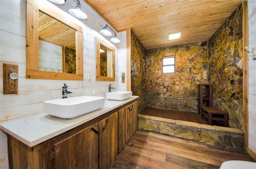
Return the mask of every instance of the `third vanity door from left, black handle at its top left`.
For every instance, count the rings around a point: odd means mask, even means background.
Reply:
[[[99,122],[99,168],[109,169],[118,155],[118,112]]]

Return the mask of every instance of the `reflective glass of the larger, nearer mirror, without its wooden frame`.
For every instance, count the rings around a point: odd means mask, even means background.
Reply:
[[[76,30],[38,12],[38,70],[76,74]]]

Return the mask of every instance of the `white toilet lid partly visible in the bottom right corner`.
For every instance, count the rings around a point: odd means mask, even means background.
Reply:
[[[256,169],[256,163],[240,160],[225,161],[220,169]]]

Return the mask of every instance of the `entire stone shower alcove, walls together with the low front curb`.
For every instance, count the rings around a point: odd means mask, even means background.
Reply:
[[[206,42],[146,50],[132,32],[132,92],[139,96],[138,129],[200,142],[208,140],[211,144],[225,147],[243,147],[241,15],[242,6]],[[230,24],[237,20],[236,25]],[[162,73],[164,56],[175,56],[175,73]],[[198,128],[194,123],[174,119],[177,115],[188,117],[186,112],[198,115],[198,84],[213,85],[213,107],[229,113],[228,126],[234,132],[223,127],[215,137],[211,135],[211,132],[217,130],[214,126],[203,125],[202,128],[200,125]],[[152,115],[145,115],[150,111],[153,112]],[[158,118],[158,114],[164,114],[163,112],[167,112],[170,120]],[[167,133],[168,131],[170,132]]]

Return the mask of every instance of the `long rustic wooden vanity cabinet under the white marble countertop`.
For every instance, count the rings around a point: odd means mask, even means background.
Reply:
[[[135,100],[33,147],[8,134],[9,168],[108,169],[136,128]]]

